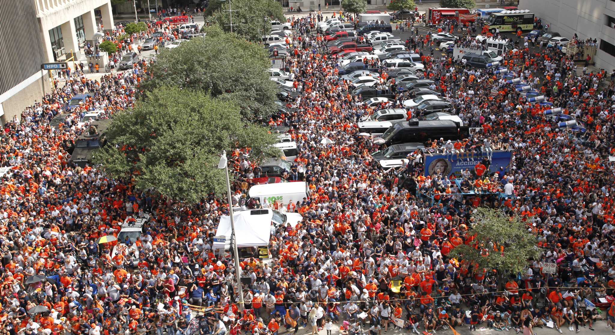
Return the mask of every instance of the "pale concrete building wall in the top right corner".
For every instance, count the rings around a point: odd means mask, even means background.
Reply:
[[[608,25],[608,16],[615,18],[615,0],[522,0],[519,9],[529,9],[549,24],[549,31],[571,38],[597,39],[596,67],[615,69],[613,55],[600,49],[601,40],[615,45],[615,29]]]

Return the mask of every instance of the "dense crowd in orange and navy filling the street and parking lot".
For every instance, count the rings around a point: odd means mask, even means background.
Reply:
[[[559,129],[544,116],[546,107],[530,103],[492,70],[419,48],[422,75],[434,80],[434,90],[454,103],[466,125],[479,128],[456,152],[467,148],[484,158],[482,168],[463,175],[464,183],[486,179],[509,197],[458,196],[444,191],[451,187],[448,175],[424,175],[420,155],[399,171],[371,158],[378,146],[359,134],[357,120],[402,106],[407,93],[365,106],[347,92],[338,59],[327,55],[315,33],[316,19],[292,23],[294,50],[286,64],[301,94],[270,122],[290,128],[299,155],[288,179],[299,178],[301,164],[312,195],[276,204],[303,220],[271,235],[271,260],[256,256],[234,264],[212,251],[218,220],[229,211],[221,196],[186,206],[137,190],[129,179],[109,179],[96,166],[69,163],[66,149],[84,131],[77,126],[82,115],[105,110],[113,117],[129,109],[149,63],[98,80],[75,69],[64,85],[57,83],[4,125],[0,136],[2,166],[9,168],[1,186],[0,331],[277,335],[281,326],[294,333],[306,326],[312,334],[339,328],[341,334],[379,335],[392,328],[419,333],[479,325],[529,335],[536,326],[593,330],[597,319],[607,318],[615,332],[615,307],[608,304],[615,289],[615,166],[609,161],[615,97],[605,73],[579,75],[553,48],[503,55],[504,66],[585,125],[580,133]],[[427,36],[418,39],[429,44]],[[67,107],[72,96],[86,92],[94,94]],[[68,116],[50,125],[62,114]],[[450,151],[438,139],[433,145]],[[486,145],[511,150],[512,164],[490,169]],[[263,206],[246,197],[252,179],[261,177],[258,164],[244,150],[233,160],[233,205]],[[400,173],[407,184],[399,185]],[[437,202],[421,196],[434,190],[442,191]],[[472,212],[479,206],[520,217],[536,235],[542,255],[520,260],[525,272],[501,282],[493,269],[448,257],[454,247],[472,244]],[[113,253],[117,242],[98,243],[137,218],[146,218],[143,234],[122,241],[136,260]],[[544,263],[557,263],[557,274],[547,276]],[[244,310],[232,284],[236,266],[249,277]],[[605,311],[599,315],[587,302]]]

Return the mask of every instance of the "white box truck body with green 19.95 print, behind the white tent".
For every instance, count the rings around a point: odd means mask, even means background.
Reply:
[[[279,202],[280,206],[287,206],[288,202],[296,203],[309,199],[311,192],[306,182],[273,183],[254,185],[248,190],[250,198],[256,198],[264,206],[271,206],[274,202]]]

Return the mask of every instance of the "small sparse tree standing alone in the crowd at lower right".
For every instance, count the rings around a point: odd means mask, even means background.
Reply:
[[[538,256],[536,236],[518,217],[481,207],[472,218],[468,234],[476,235],[474,242],[455,247],[450,257],[472,261],[488,271],[495,269],[500,275],[516,275],[523,271],[528,258]]]

